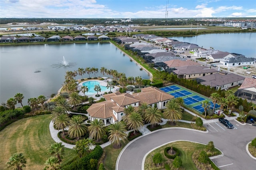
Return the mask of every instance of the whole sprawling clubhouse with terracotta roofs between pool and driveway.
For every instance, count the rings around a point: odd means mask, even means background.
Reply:
[[[101,119],[105,125],[122,121],[124,109],[128,106],[138,107],[146,102],[148,106],[165,109],[166,103],[174,97],[156,87],[146,87],[140,93],[110,93],[103,95],[106,101],[94,103],[87,109],[90,121]]]

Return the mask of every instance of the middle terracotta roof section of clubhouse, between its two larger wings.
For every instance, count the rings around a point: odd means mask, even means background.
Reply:
[[[122,93],[120,95],[112,96],[110,99],[116,102],[119,106],[126,106],[140,102],[139,100],[134,99],[134,97],[129,93]]]

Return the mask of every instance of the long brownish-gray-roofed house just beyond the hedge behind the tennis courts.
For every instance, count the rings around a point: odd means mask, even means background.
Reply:
[[[201,83],[202,85],[210,86],[211,88],[214,88],[216,90],[223,90],[237,85],[241,85],[244,79],[244,77],[236,75],[234,73],[217,73],[212,75],[206,75],[204,77],[199,77],[197,80],[198,83]]]

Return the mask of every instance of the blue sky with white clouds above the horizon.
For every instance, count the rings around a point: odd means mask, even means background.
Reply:
[[[168,15],[167,15],[168,11]],[[0,0],[0,18],[256,17],[256,0]]]

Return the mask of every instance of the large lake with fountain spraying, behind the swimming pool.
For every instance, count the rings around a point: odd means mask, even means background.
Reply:
[[[67,62],[76,65],[53,68],[53,64],[62,63],[63,56]],[[0,46],[0,102],[22,93],[26,105],[28,98],[57,93],[62,87],[66,71],[78,70],[79,67],[98,68],[96,76],[103,76],[100,68],[105,67],[125,73],[126,77],[149,79],[146,71],[141,71],[139,65],[112,43],[6,45]],[[90,74],[92,76],[94,74]],[[81,79],[81,76],[76,76],[76,79]]]

